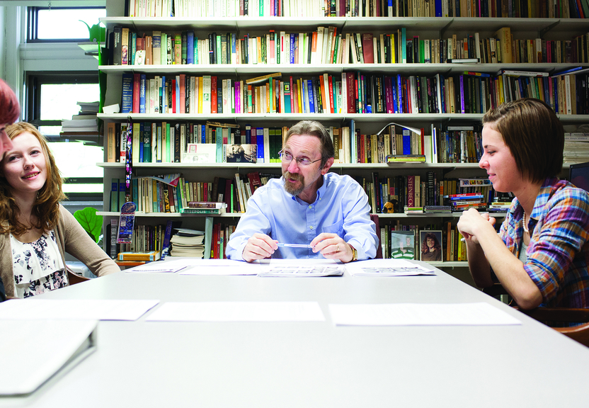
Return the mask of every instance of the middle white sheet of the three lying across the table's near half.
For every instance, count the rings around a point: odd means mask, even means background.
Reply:
[[[324,322],[318,302],[166,302],[146,322]]]

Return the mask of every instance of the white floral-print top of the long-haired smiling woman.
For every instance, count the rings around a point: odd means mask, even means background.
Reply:
[[[40,295],[67,286],[67,273],[55,241],[55,232],[44,232],[35,242],[20,242],[10,235],[16,297]]]

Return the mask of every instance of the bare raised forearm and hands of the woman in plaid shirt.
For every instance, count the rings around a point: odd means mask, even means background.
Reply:
[[[467,237],[467,240],[471,241],[467,243],[467,249],[470,250],[469,266],[471,266],[471,256],[474,258],[482,257],[472,242],[476,239],[488,261],[488,265],[493,268],[493,272],[496,274],[499,282],[501,282],[503,288],[517,302],[517,305],[520,305],[522,309],[533,309],[542,303],[542,293],[540,293],[537,285],[525,271],[524,264],[513,256],[507,246],[505,246],[505,243],[498,236],[491,222],[488,222],[488,220],[482,217],[478,211],[470,209],[462,213],[458,223],[459,231]],[[473,263],[473,268],[477,266],[483,268],[480,272],[479,283],[484,285],[483,287],[492,285],[491,271],[485,268],[484,262],[474,262],[476,263]],[[471,271],[474,270],[476,269],[471,269]],[[475,272],[475,274],[479,273]]]

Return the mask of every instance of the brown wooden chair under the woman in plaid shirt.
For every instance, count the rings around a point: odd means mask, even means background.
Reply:
[[[491,296],[507,294],[507,290],[505,290],[501,284],[484,288],[483,292]],[[577,309],[574,307],[536,307],[532,310],[523,310],[517,305],[512,306],[520,312],[532,317],[532,319],[539,320],[540,322],[583,322],[584,324],[578,326],[552,327],[552,329],[578,341],[583,344],[583,346],[589,347],[589,309]]]

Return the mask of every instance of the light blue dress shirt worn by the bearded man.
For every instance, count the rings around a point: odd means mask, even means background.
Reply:
[[[378,237],[370,220],[368,197],[350,176],[328,173],[314,203],[287,193],[284,179],[270,179],[248,200],[248,210],[227,243],[227,258],[243,260],[241,254],[256,232],[282,244],[310,244],[322,232],[338,234],[358,251],[358,259],[374,258]],[[323,258],[308,248],[279,247],[278,259]]]

